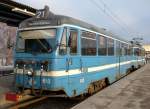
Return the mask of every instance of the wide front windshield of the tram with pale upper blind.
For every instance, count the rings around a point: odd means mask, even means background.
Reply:
[[[20,31],[16,52],[51,53],[56,44],[56,29]]]

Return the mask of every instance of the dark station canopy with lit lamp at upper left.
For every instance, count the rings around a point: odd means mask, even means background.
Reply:
[[[19,23],[35,15],[36,9],[12,0],[0,0],[0,22],[17,27]]]

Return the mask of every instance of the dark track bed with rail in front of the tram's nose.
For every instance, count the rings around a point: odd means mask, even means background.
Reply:
[[[14,103],[5,109],[70,109],[84,99],[65,97],[32,97],[27,100]]]

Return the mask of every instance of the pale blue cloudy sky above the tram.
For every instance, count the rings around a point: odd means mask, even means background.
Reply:
[[[67,15],[105,28],[126,40],[143,38],[150,43],[150,0],[14,0],[36,9],[45,5],[55,14]]]

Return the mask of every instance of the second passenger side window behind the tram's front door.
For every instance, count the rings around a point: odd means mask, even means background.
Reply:
[[[99,36],[98,55],[107,55],[107,39],[104,36]]]

